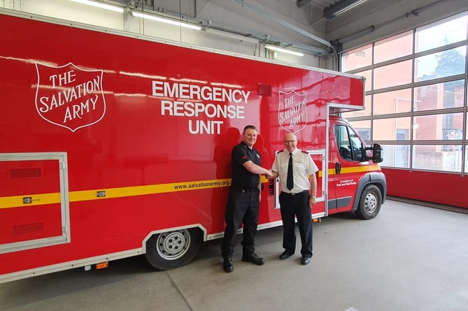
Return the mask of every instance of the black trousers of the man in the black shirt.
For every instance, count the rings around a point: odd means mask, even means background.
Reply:
[[[221,255],[232,257],[237,229],[243,224],[242,252],[250,255],[255,252],[255,233],[257,233],[258,210],[260,205],[259,189],[231,187],[225,214],[225,236],[222,238]]]

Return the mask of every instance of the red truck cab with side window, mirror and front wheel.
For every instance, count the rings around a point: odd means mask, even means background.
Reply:
[[[387,189],[381,156],[380,145],[367,147],[345,119],[329,117],[328,215],[353,210],[362,219],[376,217]]]

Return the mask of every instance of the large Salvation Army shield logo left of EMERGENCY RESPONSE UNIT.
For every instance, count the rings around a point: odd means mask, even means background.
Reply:
[[[102,70],[36,63],[36,71],[36,110],[44,120],[74,132],[106,114]]]

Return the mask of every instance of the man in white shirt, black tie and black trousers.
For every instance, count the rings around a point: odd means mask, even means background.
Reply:
[[[311,206],[315,205],[318,167],[307,152],[297,149],[294,133],[285,136],[286,149],[278,152],[271,168],[272,178],[281,181],[281,219],[283,220],[283,247],[280,259],[287,259],[295,253],[295,217],[302,241],[303,265],[311,262],[312,257],[312,219]]]

